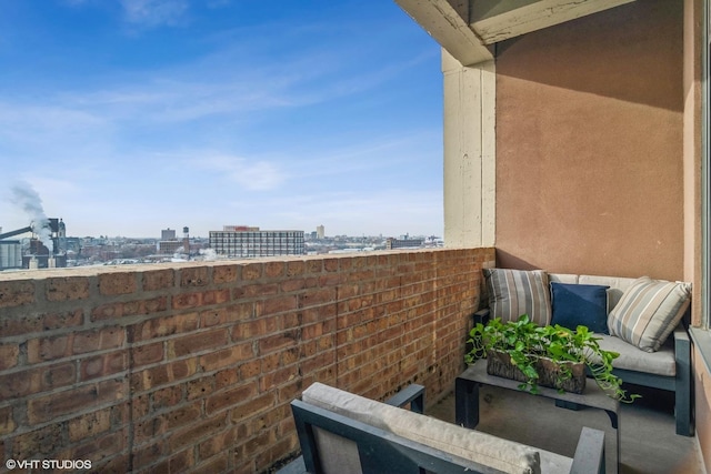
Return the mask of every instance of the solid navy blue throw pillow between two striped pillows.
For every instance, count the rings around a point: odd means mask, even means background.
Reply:
[[[592,332],[608,332],[608,289],[610,286],[590,284],[568,284],[551,282],[551,324],[575,330],[588,326]]]

